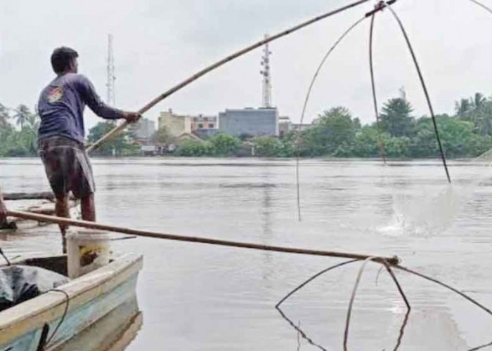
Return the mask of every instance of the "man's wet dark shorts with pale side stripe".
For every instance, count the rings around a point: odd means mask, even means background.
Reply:
[[[54,136],[39,140],[39,156],[56,197],[72,191],[77,199],[96,190],[92,167],[84,145],[75,140]]]

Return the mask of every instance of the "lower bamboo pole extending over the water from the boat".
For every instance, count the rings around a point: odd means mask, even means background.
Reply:
[[[150,237],[156,239],[167,239],[167,240],[176,240],[176,241],[188,241],[202,244],[212,244],[219,246],[232,246],[243,249],[254,249],[254,250],[262,250],[262,251],[276,251],[283,253],[299,253],[302,255],[312,255],[312,256],[329,256],[329,257],[340,257],[340,258],[353,258],[356,260],[365,260],[369,257],[375,257],[373,255],[362,255],[358,253],[346,253],[346,252],[335,252],[335,251],[321,251],[321,250],[311,250],[311,249],[298,249],[298,248],[290,248],[290,247],[282,247],[282,246],[269,246],[263,244],[251,244],[245,242],[238,241],[227,241],[221,239],[209,239],[205,237],[188,237],[186,235],[177,235],[177,234],[165,234],[159,232],[149,232],[146,230],[136,230],[126,227],[117,227],[114,225],[105,225],[96,222],[88,222],[86,220],[72,220],[70,218],[63,217],[54,217],[54,216],[46,216],[40,215],[37,213],[28,213],[22,211],[7,211],[7,216],[23,218],[26,220],[37,220],[39,222],[48,222],[48,223],[57,223],[62,225],[72,225],[74,227],[84,227],[89,229],[96,230],[108,230],[110,232],[119,232],[124,234],[133,234],[138,237]],[[390,265],[398,265],[400,260],[398,257],[380,257],[377,256],[373,259],[375,262],[379,263],[389,263]]]

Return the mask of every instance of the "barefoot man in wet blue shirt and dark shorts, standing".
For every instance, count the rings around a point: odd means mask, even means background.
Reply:
[[[57,77],[41,91],[38,102],[41,124],[38,134],[39,155],[44,164],[51,189],[56,197],[56,215],[70,217],[68,193],[81,200],[82,219],[96,220],[95,186],[91,163],[84,148],[84,107],[104,119],[126,119],[141,116],[106,105],[96,93],[91,81],[77,74],[77,51],[56,48],[51,54],[51,66]],[[65,230],[60,225],[65,251]]]

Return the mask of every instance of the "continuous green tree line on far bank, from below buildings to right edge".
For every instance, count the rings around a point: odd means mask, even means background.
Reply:
[[[259,157],[439,157],[432,119],[415,118],[404,96],[385,102],[379,117],[379,123],[363,126],[346,107],[332,107],[311,126],[282,138],[215,135],[205,142],[188,140],[176,153],[228,156],[250,147]],[[455,114],[436,115],[436,124],[447,157],[477,157],[492,148],[492,98],[481,93],[462,98],[455,102]]]

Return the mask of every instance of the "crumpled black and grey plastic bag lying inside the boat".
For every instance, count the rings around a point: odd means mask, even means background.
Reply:
[[[0,268],[0,311],[70,282],[62,274],[27,265]]]

